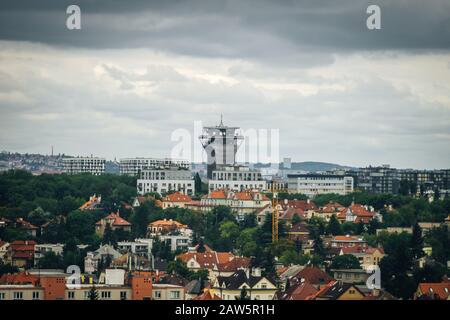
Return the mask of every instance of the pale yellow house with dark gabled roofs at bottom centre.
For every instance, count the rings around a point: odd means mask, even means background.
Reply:
[[[223,300],[236,300],[245,288],[250,300],[273,300],[277,292],[275,280],[261,275],[259,269],[238,270],[228,277],[219,276],[215,279],[211,293]]]

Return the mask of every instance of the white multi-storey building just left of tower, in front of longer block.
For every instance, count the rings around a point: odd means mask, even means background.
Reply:
[[[137,191],[141,195],[150,192],[164,194],[170,191],[193,195],[195,182],[191,171],[179,167],[143,169],[137,180]]]

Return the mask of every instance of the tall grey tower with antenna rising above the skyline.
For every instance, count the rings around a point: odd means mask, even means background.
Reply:
[[[199,139],[206,151],[207,177],[211,179],[212,172],[216,168],[236,164],[236,153],[240,141],[244,137],[241,135],[239,127],[225,126],[221,115],[220,124],[218,126],[203,127],[203,132]]]

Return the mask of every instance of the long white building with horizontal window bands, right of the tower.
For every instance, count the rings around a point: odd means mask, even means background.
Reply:
[[[289,193],[302,193],[308,197],[336,193],[346,195],[353,192],[353,177],[332,174],[289,174]]]

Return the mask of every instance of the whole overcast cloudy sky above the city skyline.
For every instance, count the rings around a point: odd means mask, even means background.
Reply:
[[[293,161],[449,168],[450,1],[0,2],[0,150],[165,157],[220,114]]]

